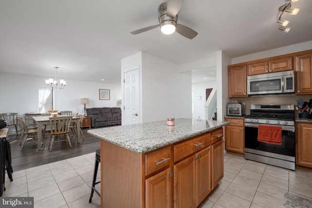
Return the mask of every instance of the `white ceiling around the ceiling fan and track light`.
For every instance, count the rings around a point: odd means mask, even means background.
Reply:
[[[1,0],[0,71],[120,84],[120,60],[139,51],[177,64],[223,50],[230,57],[312,40],[312,0],[299,0],[278,31],[285,0],[185,0],[178,23],[198,35],[163,35],[155,28],[162,0]]]

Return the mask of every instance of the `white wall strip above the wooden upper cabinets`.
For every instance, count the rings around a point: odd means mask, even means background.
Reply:
[[[275,56],[291,54],[291,53],[306,51],[306,50],[311,50],[311,49],[312,49],[312,40],[303,42],[303,43],[281,47],[281,48],[275,48],[275,49],[268,50],[268,51],[262,51],[259,53],[249,54],[249,55],[242,56],[242,57],[235,57],[235,58],[232,58],[231,64],[243,63],[243,62],[253,61],[253,60],[257,60],[261,58],[275,57]]]

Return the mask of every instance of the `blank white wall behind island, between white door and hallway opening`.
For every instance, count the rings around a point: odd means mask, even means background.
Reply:
[[[142,109],[143,122],[192,118],[192,73],[142,52]]]

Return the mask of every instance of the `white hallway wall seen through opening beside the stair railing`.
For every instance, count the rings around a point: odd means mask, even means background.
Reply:
[[[216,81],[200,82],[192,84],[194,92],[194,119],[205,119],[205,103],[206,103],[206,89],[214,88]],[[201,96],[201,100],[197,100],[197,96]]]

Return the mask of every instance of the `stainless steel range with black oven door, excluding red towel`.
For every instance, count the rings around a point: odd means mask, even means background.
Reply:
[[[251,105],[245,116],[245,158],[295,170],[294,105]],[[282,143],[257,140],[258,125],[282,127]]]

